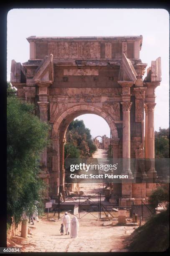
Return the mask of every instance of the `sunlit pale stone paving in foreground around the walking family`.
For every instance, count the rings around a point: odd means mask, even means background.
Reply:
[[[23,252],[109,252],[124,250],[123,239],[130,235],[133,227],[103,226],[101,220],[79,220],[79,237],[60,235],[62,220],[41,220],[32,229],[33,235],[20,238]]]

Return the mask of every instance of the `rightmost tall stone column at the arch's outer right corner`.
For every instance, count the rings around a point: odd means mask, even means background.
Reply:
[[[148,177],[157,177],[155,171],[155,132],[154,132],[154,109],[156,103],[146,103],[148,120],[147,120],[147,157],[151,160],[151,166],[147,172]]]

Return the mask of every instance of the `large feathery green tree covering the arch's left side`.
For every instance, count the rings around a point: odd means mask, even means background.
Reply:
[[[7,217],[15,223],[39,202],[45,189],[38,177],[40,152],[48,145],[49,125],[33,115],[34,105],[7,98]]]

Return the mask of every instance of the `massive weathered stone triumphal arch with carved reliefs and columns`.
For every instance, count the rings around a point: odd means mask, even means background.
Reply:
[[[11,64],[11,83],[17,95],[38,106],[36,115],[51,124],[51,147],[41,155],[41,177],[49,196],[64,188],[64,142],[69,123],[93,113],[111,129],[114,158],[154,159],[155,88],[161,81],[160,57],[140,59],[142,36],[27,38],[30,59]],[[144,115],[145,112],[145,115]],[[144,118],[145,117],[145,118]],[[145,119],[145,120],[144,120]],[[95,123],[94,123],[95,125]],[[156,179],[154,161],[138,176]],[[131,175],[130,163],[124,172]],[[151,189],[143,182],[143,196]],[[139,184],[114,184],[115,194],[137,197]],[[136,193],[136,194],[135,194]]]

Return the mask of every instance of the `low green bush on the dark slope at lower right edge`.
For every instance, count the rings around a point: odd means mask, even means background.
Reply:
[[[169,184],[155,189],[149,197],[149,203],[155,207],[164,202],[169,202]]]

